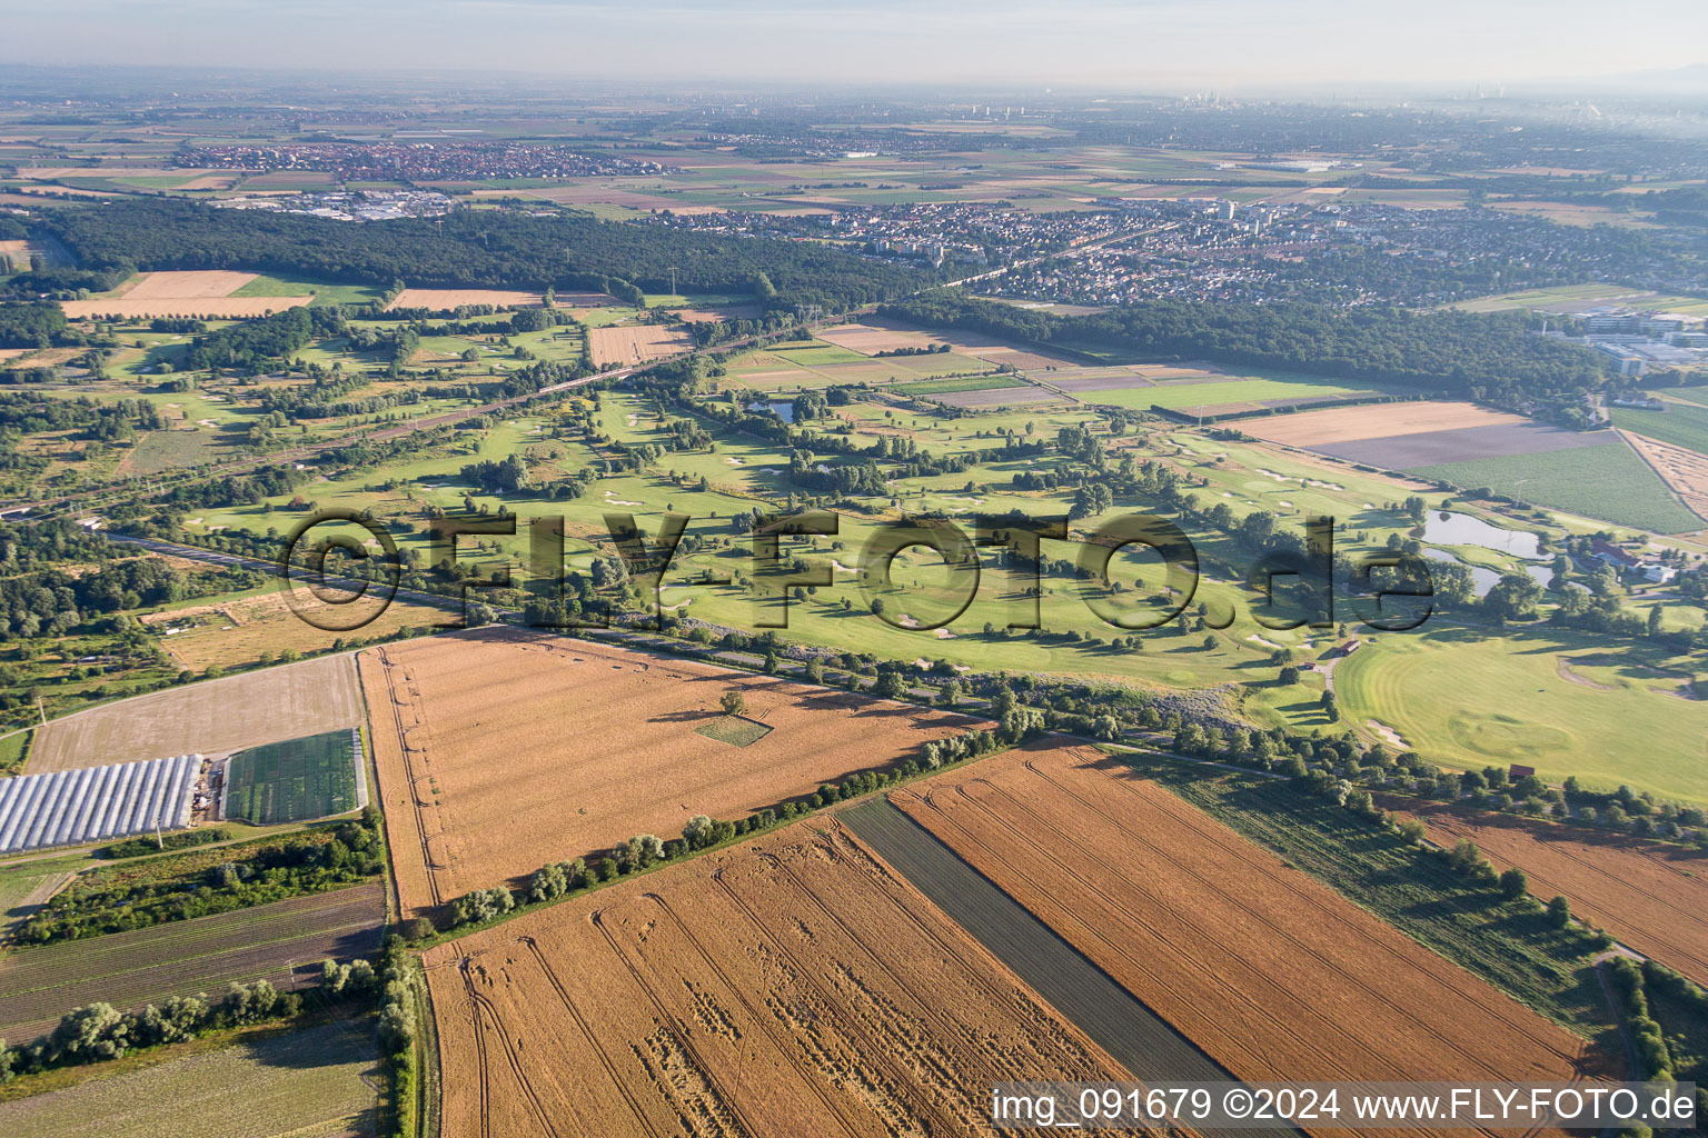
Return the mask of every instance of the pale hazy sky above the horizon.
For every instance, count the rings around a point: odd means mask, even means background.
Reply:
[[[1705,0],[0,0],[0,61],[1179,90],[1708,61]]]

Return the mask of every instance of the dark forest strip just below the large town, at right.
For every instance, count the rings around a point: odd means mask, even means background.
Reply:
[[[1397,382],[1428,394],[1527,408],[1573,425],[1588,423],[1582,396],[1604,380],[1595,355],[1530,334],[1517,314],[1156,300],[1059,317],[958,292],[934,292],[880,312],[1066,348],[1120,348],[1158,360],[1199,358]]]

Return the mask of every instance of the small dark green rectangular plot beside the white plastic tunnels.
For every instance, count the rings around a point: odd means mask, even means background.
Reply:
[[[354,810],[355,761],[348,730],[243,751],[225,768],[225,817],[268,826]]]

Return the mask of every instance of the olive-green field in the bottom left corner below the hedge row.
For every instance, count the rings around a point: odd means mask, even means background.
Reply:
[[[34,1138],[284,1138],[374,1131],[374,1032],[333,1020],[260,1034],[109,1078],[0,1104],[0,1133]],[[99,1126],[96,1126],[99,1121]]]

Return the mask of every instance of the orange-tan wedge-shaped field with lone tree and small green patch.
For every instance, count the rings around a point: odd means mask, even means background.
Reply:
[[[447,633],[359,660],[412,914],[635,834],[675,838],[695,814],[746,817],[977,723],[518,631]],[[746,696],[745,718],[721,713],[726,691]],[[755,734],[746,746],[716,737]]]

